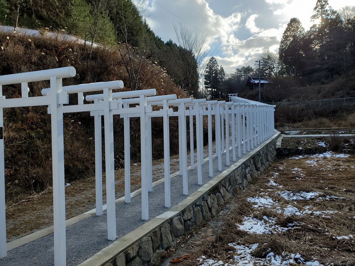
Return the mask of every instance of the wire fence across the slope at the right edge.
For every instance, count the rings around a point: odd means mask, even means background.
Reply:
[[[290,101],[290,102],[264,102],[271,105],[298,105],[304,107],[322,107],[322,106],[339,106],[339,105],[355,105],[355,97],[338,98],[338,99],[323,99],[313,101]]]

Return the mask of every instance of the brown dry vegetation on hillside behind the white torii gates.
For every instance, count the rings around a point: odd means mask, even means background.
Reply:
[[[21,73],[57,67],[73,66],[76,76],[63,80],[63,86],[81,83],[122,80],[132,83],[129,72],[138,72],[137,89],[154,88],[157,95],[186,93],[175,85],[163,68],[154,62],[140,60],[130,47],[131,57],[124,46],[94,48],[49,39],[0,33],[0,74]],[[121,49],[121,52],[120,52]],[[122,58],[122,56],[123,58]],[[129,62],[124,64],[124,60]],[[49,82],[29,83],[29,96],[40,96]],[[131,86],[130,86],[131,87]],[[129,90],[124,88],[124,90]],[[6,98],[21,95],[20,84],[3,86]],[[70,102],[76,102],[71,95]],[[170,118],[170,132],[176,132],[177,120]],[[160,158],[163,150],[163,127],[160,119],[152,119],[153,158]],[[6,200],[21,199],[51,185],[51,134],[47,107],[34,106],[4,109]],[[124,160],[123,123],[114,117],[115,168]],[[103,139],[104,141],[104,139]],[[64,114],[65,176],[66,181],[90,176],[94,171],[94,121],[87,113]],[[170,135],[171,153],[178,151],[178,141]],[[104,155],[104,153],[103,153]],[[140,158],[139,119],[131,119],[131,160]],[[103,158],[104,162],[104,158]]]

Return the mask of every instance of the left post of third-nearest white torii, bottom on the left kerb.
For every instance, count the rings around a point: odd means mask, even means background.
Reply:
[[[98,104],[98,99],[94,100]],[[94,111],[95,126],[95,198],[96,198],[96,215],[102,215],[102,132],[101,132],[101,116],[99,111]]]

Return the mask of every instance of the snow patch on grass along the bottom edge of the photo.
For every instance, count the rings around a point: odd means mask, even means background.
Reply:
[[[224,263],[223,261],[216,261],[207,259],[205,256],[201,256],[201,258],[197,259],[200,261],[200,265],[203,266],[253,266],[253,265],[284,265],[290,266],[295,264],[301,264],[305,266],[322,266],[317,260],[307,261],[301,257],[298,253],[283,253],[282,255],[276,255],[272,251],[268,251],[268,254],[265,258],[258,258],[251,255],[257,247],[258,243],[252,245],[238,245],[236,243],[230,243],[229,246],[235,248],[235,252],[233,259],[230,259],[228,263]]]

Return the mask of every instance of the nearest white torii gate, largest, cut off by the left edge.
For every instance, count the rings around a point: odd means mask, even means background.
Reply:
[[[21,83],[21,98],[0,99],[0,257],[6,256],[6,218],[5,218],[5,162],[3,108],[48,105],[51,113],[52,164],[53,164],[53,215],[54,215],[54,263],[66,265],[65,236],[65,184],[64,184],[64,137],[63,104],[69,103],[69,97],[62,92],[62,78],[74,77],[74,67],[63,67],[27,73],[0,76],[0,95],[2,85]],[[28,97],[28,82],[50,81],[50,94]]]

